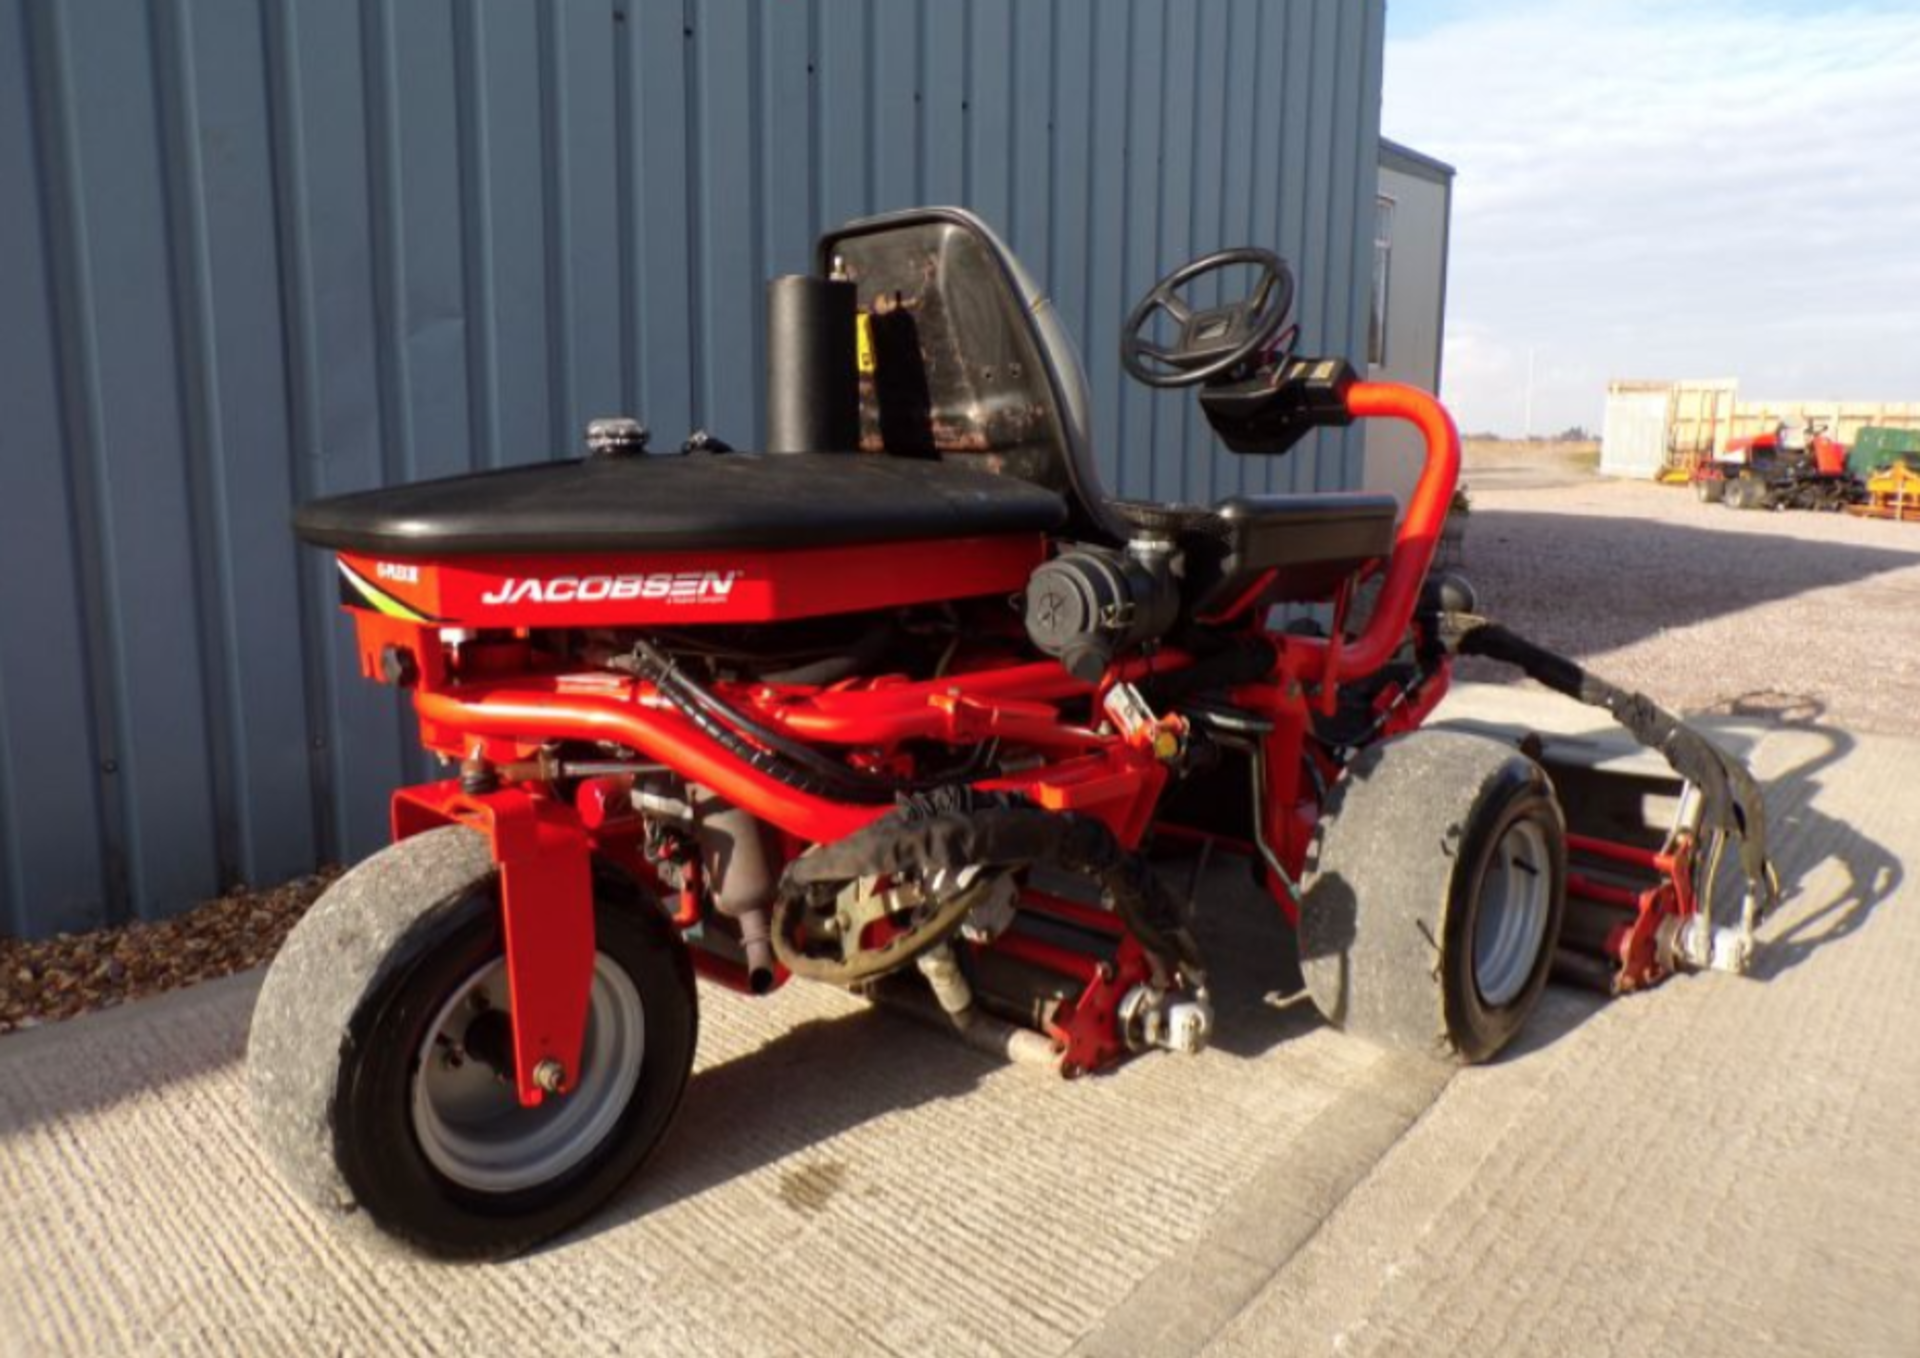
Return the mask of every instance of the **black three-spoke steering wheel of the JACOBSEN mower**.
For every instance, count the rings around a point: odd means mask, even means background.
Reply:
[[[1260,280],[1246,298],[1206,311],[1181,302],[1181,288],[1235,265],[1260,269]],[[1292,305],[1294,275],[1277,254],[1258,246],[1215,250],[1183,263],[1140,298],[1119,328],[1119,365],[1127,376],[1148,386],[1198,386],[1260,353],[1281,332]],[[1171,350],[1146,338],[1154,311],[1165,311],[1181,328]]]

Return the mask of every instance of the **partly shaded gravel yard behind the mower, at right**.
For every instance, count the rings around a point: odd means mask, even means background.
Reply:
[[[1465,570],[1517,632],[1682,711],[1920,736],[1920,526],[1740,513],[1501,448],[1469,448],[1467,480]]]

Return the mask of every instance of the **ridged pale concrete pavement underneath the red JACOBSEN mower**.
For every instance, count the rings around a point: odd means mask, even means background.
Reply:
[[[1764,734],[1793,899],[1761,976],[1549,991],[1471,1072],[1323,1028],[1225,885],[1194,1060],[1064,1083],[831,991],[703,991],[666,1147],[505,1266],[280,1189],[253,978],[8,1037],[0,1352],[1914,1354],[1916,759]]]

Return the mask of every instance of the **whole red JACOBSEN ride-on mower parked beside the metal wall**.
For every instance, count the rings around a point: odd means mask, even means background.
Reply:
[[[1242,300],[1192,300],[1235,269]],[[1770,891],[1751,778],[1428,580],[1453,423],[1296,357],[1292,292],[1265,250],[1196,259],[1121,361],[1198,386],[1244,455],[1409,421],[1398,522],[1365,494],[1110,499],[1060,319],[962,211],[852,223],[772,284],[762,453],[649,455],[601,421],[582,461],[305,505],[365,674],[449,776],[394,793],[394,845],[261,991],[286,1176],[440,1254],[551,1235],[664,1133],[695,976],[904,983],[1068,1076],[1200,1051],[1167,845],[1244,857],[1331,1022],[1442,1058],[1498,1053],[1557,960],[1613,991],[1743,966]],[[1538,741],[1417,730],[1455,653],[1613,711],[1672,763],[1670,820],[1596,791],[1590,834]],[[1757,885],[1715,918],[1728,843]]]

